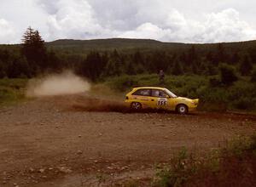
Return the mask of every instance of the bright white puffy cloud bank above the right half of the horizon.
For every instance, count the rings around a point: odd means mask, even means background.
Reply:
[[[230,42],[256,39],[256,31],[247,22],[240,20],[239,13],[232,8],[217,14],[207,14],[201,22],[185,19],[177,10],[166,14],[166,18],[162,26],[148,22],[133,31],[125,31],[119,37],[143,37],[172,42]]]

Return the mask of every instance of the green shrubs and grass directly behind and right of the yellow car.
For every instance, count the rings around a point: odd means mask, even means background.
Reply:
[[[170,89],[174,94],[190,99],[200,99],[199,109],[203,111],[255,111],[256,84],[246,78],[240,78],[231,86],[212,86],[210,79],[204,76],[166,76],[160,84],[156,74],[110,77],[101,84],[115,93],[125,94],[131,88],[156,86]]]

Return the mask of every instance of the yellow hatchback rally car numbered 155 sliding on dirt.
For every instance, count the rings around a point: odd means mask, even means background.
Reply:
[[[126,94],[125,103],[133,110],[145,108],[164,109],[186,114],[195,111],[199,99],[177,97],[166,88],[141,87],[133,88]]]

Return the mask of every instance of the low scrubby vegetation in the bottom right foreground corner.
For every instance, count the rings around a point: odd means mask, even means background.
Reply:
[[[226,147],[199,157],[183,148],[170,163],[159,166],[154,187],[251,186],[256,172],[256,134],[237,137]]]

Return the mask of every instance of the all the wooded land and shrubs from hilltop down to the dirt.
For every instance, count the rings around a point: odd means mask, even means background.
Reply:
[[[91,82],[107,82],[119,91],[158,85],[157,73],[164,70],[165,86],[177,94],[203,102],[232,103],[232,108],[256,108],[256,41],[186,44],[113,38],[44,42],[29,27],[20,44],[0,45],[0,78],[27,79],[64,70]]]

